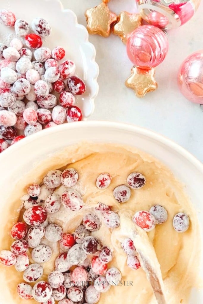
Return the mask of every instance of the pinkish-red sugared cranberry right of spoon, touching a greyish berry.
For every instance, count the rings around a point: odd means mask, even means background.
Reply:
[[[156,226],[155,217],[148,211],[138,211],[133,216],[133,221],[143,230],[149,232]]]

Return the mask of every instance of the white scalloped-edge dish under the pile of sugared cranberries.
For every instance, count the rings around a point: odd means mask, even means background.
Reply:
[[[76,74],[85,81],[87,88],[85,94],[76,96],[76,105],[82,110],[83,120],[90,116],[99,90],[99,67],[95,62],[96,50],[88,41],[86,28],[78,24],[75,13],[64,10],[59,0],[1,0],[0,9],[8,9],[17,19],[25,19],[29,23],[36,17],[50,23],[52,32],[43,45],[50,49],[62,46],[66,51],[64,60],[75,62]],[[15,36],[14,29],[0,24],[0,42],[9,45],[12,36]]]

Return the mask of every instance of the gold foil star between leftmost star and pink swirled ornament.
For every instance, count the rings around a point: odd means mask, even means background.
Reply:
[[[128,12],[121,12],[118,16],[117,23],[113,26],[112,32],[121,38],[123,43],[127,43],[128,35],[134,29],[142,25],[142,18],[139,14],[130,14]]]

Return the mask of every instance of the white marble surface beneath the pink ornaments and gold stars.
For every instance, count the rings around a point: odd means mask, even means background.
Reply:
[[[62,0],[62,3],[75,12],[79,23],[86,25],[85,10],[99,4],[100,0]],[[117,14],[122,10],[136,12],[135,0],[111,0],[109,7]],[[177,87],[177,71],[184,58],[203,49],[202,13],[203,1],[187,24],[168,32],[169,53],[156,68],[159,88],[142,99],[124,85],[132,64],[119,37],[90,35],[100,67],[100,91],[95,100],[95,112],[89,119],[132,123],[156,131],[203,161],[203,111],[199,105],[187,101]]]

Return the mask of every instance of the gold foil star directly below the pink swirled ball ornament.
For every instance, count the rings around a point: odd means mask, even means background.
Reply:
[[[144,97],[146,93],[155,91],[158,87],[154,74],[154,68],[143,70],[134,66],[131,69],[131,76],[125,81],[125,85],[133,89],[137,97]]]

